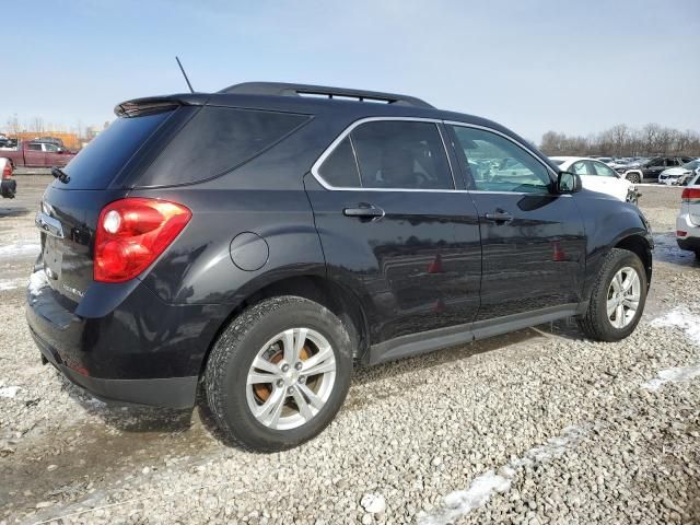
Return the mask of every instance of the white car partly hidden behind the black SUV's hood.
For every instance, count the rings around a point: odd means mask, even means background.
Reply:
[[[583,187],[591,191],[611,195],[622,201],[637,203],[637,186],[621,178],[615,170],[595,159],[585,156],[550,156],[560,170],[581,176]]]

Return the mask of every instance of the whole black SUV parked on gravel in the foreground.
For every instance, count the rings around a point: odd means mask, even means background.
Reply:
[[[27,290],[44,360],[97,397],[201,388],[275,451],[331,421],[353,363],[569,316],[615,341],[642,314],[640,211],[490,120],[277,83],[115,112],[44,195]]]

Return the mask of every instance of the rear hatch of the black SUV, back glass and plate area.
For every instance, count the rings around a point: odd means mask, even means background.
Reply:
[[[180,110],[171,103],[120,116],[44,194],[36,217],[42,232],[39,265],[67,310],[75,310],[93,282],[94,235],[102,208],[127,195],[130,173],[154,158],[153,143],[162,140],[159,130],[172,128]]]

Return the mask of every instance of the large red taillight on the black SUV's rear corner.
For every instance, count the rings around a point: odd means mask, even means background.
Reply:
[[[126,198],[100,213],[95,281],[124,282],[145,270],[189,222],[191,212],[165,200]]]

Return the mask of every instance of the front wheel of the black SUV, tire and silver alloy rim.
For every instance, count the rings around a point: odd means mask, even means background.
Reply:
[[[646,271],[632,252],[614,248],[598,273],[582,331],[600,341],[619,341],[637,327],[646,302]]]

